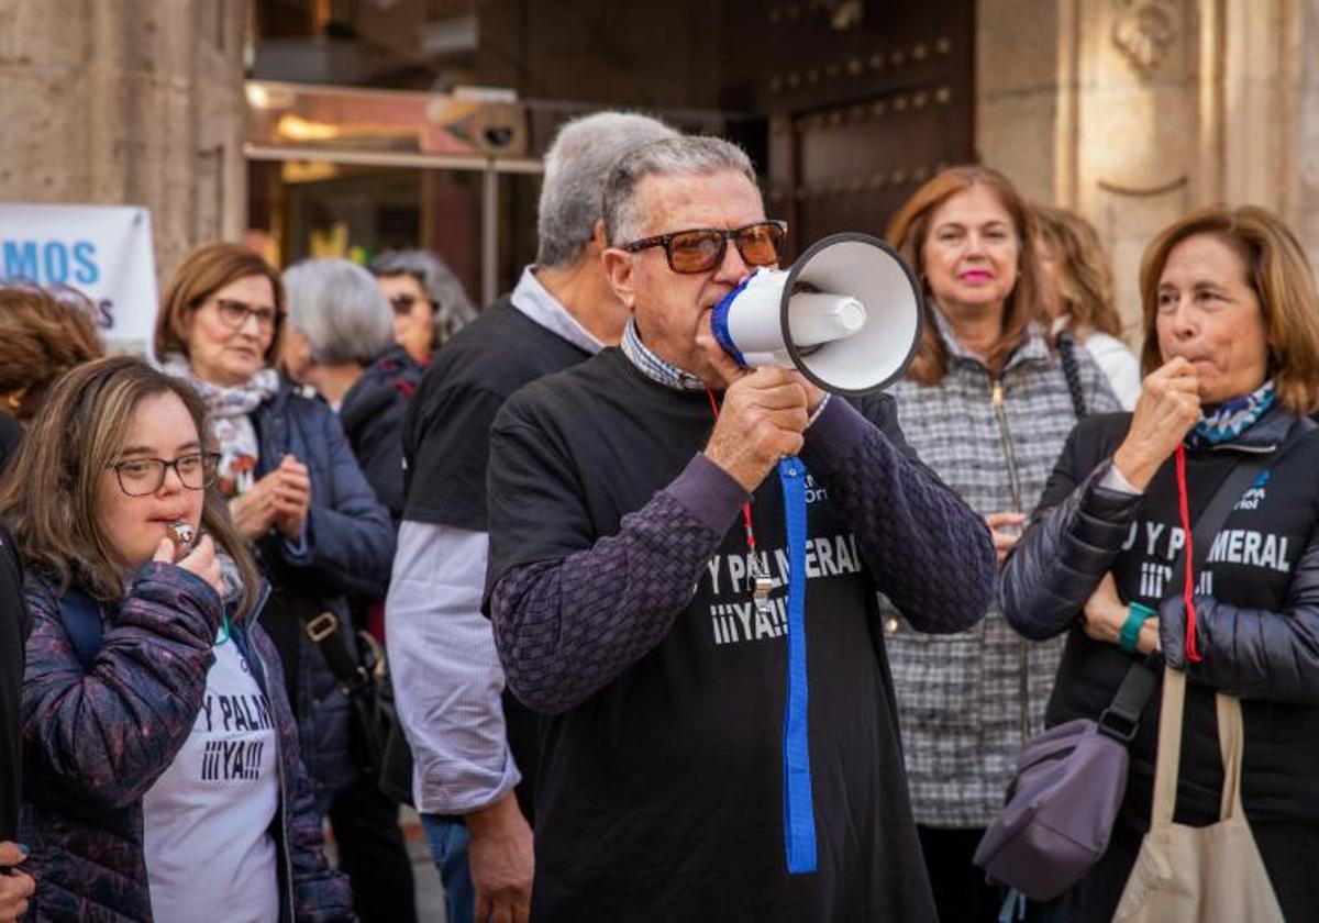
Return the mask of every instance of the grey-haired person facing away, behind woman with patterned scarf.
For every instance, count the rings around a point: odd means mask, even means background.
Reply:
[[[357,467],[397,523],[404,494],[400,432],[418,376],[394,343],[389,305],[371,273],[347,260],[306,260],[286,269],[282,281],[284,367],[339,414]],[[372,628],[369,612],[381,600],[348,601],[356,628]],[[339,789],[327,815],[357,914],[364,920],[415,920],[398,802],[383,794],[379,773],[360,773]]]

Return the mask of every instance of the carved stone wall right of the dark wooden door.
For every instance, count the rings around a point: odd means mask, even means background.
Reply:
[[[1319,253],[1319,75],[1302,67],[1319,53],[1319,0],[981,0],[977,12],[981,153],[1093,222],[1129,328],[1145,245],[1188,210],[1261,204]]]

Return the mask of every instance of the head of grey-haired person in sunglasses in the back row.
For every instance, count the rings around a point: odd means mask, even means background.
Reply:
[[[371,272],[394,313],[394,339],[418,365],[476,316],[445,261],[429,251],[385,251]]]

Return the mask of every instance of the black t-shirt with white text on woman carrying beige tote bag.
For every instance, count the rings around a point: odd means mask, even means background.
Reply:
[[[1064,500],[1068,484],[1084,480],[1100,462],[1111,458],[1126,435],[1129,421],[1130,414],[1105,414],[1079,425],[1059,462],[1059,469],[1067,469],[1067,475],[1055,473],[1039,508],[1047,509]],[[1186,452],[1192,523],[1240,458],[1241,454],[1232,450]],[[1237,607],[1245,622],[1253,618],[1252,610],[1286,612],[1295,604],[1298,564],[1319,527],[1316,464],[1319,434],[1312,432],[1260,475],[1215,537],[1206,564],[1196,575],[1196,593]],[[1184,572],[1174,572],[1173,566],[1184,543],[1174,465],[1169,460],[1146,487],[1113,560],[1112,574],[1121,599],[1158,609],[1162,600],[1181,596]],[[1132,655],[1116,645],[1093,641],[1079,625],[1074,628],[1049,703],[1047,724],[1054,727],[1074,717],[1096,719],[1112,701],[1132,662]],[[1130,745],[1132,779],[1122,818],[1138,831],[1149,824],[1159,701],[1155,692]],[[1253,823],[1319,821],[1319,789],[1315,786],[1319,778],[1319,708],[1246,698],[1241,701],[1241,713],[1245,728],[1241,796],[1246,815]],[[1188,683],[1178,787],[1177,818],[1181,823],[1204,824],[1219,816],[1223,762],[1216,728],[1212,690]]]

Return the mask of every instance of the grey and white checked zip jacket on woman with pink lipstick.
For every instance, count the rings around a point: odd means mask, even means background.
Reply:
[[[902,431],[981,516],[1029,514],[1076,423],[1062,363],[1031,327],[1002,371],[996,402],[989,369],[938,313],[935,322],[948,347],[948,373],[933,388],[910,380],[890,388]],[[1087,351],[1074,352],[1087,413],[1120,410]],[[1062,640],[1028,642],[1008,626],[997,601],[959,634],[915,632],[881,603],[917,823],[987,827],[1002,807],[1022,742],[1043,730]]]

